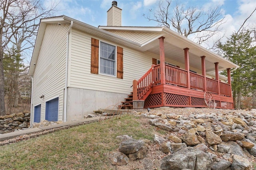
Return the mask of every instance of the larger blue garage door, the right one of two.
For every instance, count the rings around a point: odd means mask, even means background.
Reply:
[[[46,102],[45,119],[48,121],[58,121],[59,98],[54,98]]]

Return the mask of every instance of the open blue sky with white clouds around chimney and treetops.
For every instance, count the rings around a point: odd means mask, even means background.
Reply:
[[[116,0],[117,6],[122,9],[122,26],[158,26],[158,23],[148,21],[143,14],[149,10],[156,10],[159,0]],[[85,22],[92,26],[106,26],[107,11],[112,5],[112,0],[46,0],[46,6],[58,3],[55,16],[66,15],[70,18]],[[244,20],[250,16],[256,8],[256,0],[177,0],[186,7],[198,7],[207,9],[209,6],[219,4],[226,23],[223,30],[237,31]],[[176,0],[172,0],[176,3]],[[254,23],[256,26],[256,12],[246,22],[246,25]]]

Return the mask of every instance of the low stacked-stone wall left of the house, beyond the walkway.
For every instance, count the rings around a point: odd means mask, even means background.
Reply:
[[[30,113],[0,116],[0,134],[24,130],[30,126]]]

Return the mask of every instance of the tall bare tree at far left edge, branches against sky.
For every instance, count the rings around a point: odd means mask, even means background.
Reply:
[[[4,51],[12,45],[19,49],[18,53],[31,48],[34,40],[30,41],[29,38],[36,35],[40,18],[50,16],[54,8],[54,4],[44,8],[41,0],[0,0],[0,116],[6,114]]]

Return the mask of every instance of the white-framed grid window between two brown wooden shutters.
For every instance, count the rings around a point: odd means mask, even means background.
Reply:
[[[116,46],[100,42],[100,73],[116,76]]]

